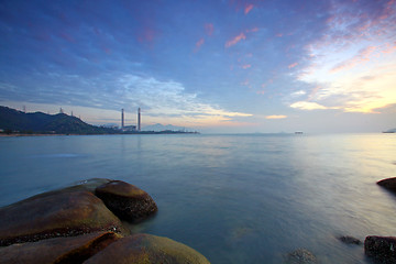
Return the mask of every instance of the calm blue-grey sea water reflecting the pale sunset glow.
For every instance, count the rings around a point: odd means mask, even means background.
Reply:
[[[75,182],[146,190],[157,216],[135,232],[186,243],[211,263],[370,263],[361,240],[396,235],[396,134],[0,138],[0,206]]]

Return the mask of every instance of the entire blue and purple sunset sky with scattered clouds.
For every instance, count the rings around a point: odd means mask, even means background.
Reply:
[[[0,105],[207,133],[396,128],[396,0],[0,0]]]

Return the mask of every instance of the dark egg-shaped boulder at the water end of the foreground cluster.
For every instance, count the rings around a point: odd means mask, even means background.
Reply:
[[[121,180],[112,180],[96,188],[96,196],[119,218],[139,222],[157,211],[153,198],[144,190]]]

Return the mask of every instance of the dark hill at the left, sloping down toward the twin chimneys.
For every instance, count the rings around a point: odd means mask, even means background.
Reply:
[[[80,119],[65,113],[24,113],[1,106],[0,129],[7,132],[53,134],[112,134],[118,132],[113,129],[87,124]]]

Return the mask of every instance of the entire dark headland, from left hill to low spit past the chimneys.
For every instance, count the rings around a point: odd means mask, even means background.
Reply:
[[[0,106],[0,134],[8,135],[94,135],[94,134],[198,134],[176,130],[139,131],[125,128],[106,128],[88,124],[77,117],[63,112],[22,112]]]

